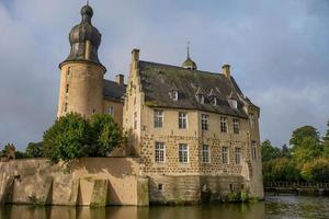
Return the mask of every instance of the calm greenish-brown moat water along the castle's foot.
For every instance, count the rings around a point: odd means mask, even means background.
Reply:
[[[32,207],[0,206],[0,219],[282,219],[329,218],[329,197],[268,196],[253,204],[213,204],[179,207]]]

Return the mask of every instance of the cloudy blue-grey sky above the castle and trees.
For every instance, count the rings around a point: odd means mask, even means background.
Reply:
[[[58,64],[68,56],[80,0],[0,0],[0,148],[24,150],[56,119]],[[328,0],[90,0],[106,79],[128,74],[131,51],[180,66],[191,42],[198,69],[231,74],[260,106],[261,140],[329,119]]]

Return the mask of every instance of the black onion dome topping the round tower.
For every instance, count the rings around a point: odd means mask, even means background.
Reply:
[[[81,23],[73,26],[69,34],[71,50],[65,61],[90,60],[100,64],[98,49],[101,45],[101,34],[91,24],[93,10],[90,5],[81,9]],[[89,43],[87,43],[89,42]],[[89,46],[88,46],[89,44]],[[87,50],[89,47],[89,50]]]

